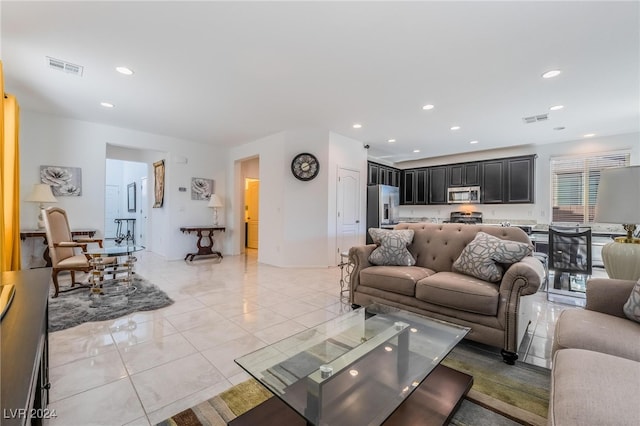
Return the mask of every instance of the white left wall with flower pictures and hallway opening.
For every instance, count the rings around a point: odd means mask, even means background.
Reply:
[[[221,147],[26,110],[21,111],[20,132],[21,198],[39,182],[41,165],[81,167],[82,196],[59,197],[56,205],[67,210],[73,228],[95,228],[100,235],[104,230],[107,144],[142,151],[137,154],[148,164],[164,159],[164,207],[150,211],[148,243],[150,250],[168,259],[182,259],[195,248],[195,237],[183,235],[180,226],[213,220],[206,202],[191,201],[190,192],[178,192],[178,187],[189,188],[191,177],[214,179],[216,192],[220,191],[222,196],[227,187],[224,169],[227,150]],[[139,161],[139,158],[120,159]],[[153,197],[153,175],[149,176]],[[21,228],[35,227],[36,218],[37,206],[23,202]]]

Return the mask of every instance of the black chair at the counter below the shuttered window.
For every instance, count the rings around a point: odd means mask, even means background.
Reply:
[[[548,261],[554,289],[584,293],[592,272],[591,228],[549,227]]]

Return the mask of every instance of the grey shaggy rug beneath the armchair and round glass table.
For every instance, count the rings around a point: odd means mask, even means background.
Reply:
[[[49,332],[132,312],[152,311],[173,303],[164,291],[139,275],[134,276],[131,284],[135,291],[124,291],[120,284],[117,280],[105,280],[104,294],[91,294],[89,288],[80,288],[49,298]]]

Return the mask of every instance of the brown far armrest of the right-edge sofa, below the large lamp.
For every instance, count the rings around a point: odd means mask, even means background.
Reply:
[[[612,278],[592,278],[587,282],[585,309],[626,318],[622,310],[629,299],[635,281]]]

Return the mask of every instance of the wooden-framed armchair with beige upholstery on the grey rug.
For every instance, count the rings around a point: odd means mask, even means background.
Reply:
[[[43,212],[47,244],[49,245],[49,254],[53,267],[51,272],[51,278],[53,279],[53,285],[55,287],[53,297],[58,297],[61,291],[64,292],[86,287],[84,284],[76,283],[75,273],[76,271],[91,271],[91,264],[89,263],[89,257],[83,253],[77,253],[76,249],[79,248],[84,252],[89,243],[97,243],[102,247],[102,240],[95,238],[73,240],[69,220],[67,219],[67,212],[65,210],[59,207],[49,207],[44,209]],[[115,277],[117,268],[116,258],[107,257],[104,259],[104,263],[112,267],[112,270],[108,273]],[[60,290],[58,284],[58,274],[62,271],[69,271],[71,273],[71,287],[66,290]],[[75,287],[76,284],[80,284],[80,286]]]

